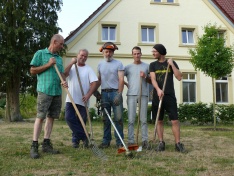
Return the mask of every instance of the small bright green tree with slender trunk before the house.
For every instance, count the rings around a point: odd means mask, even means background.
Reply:
[[[204,27],[204,35],[198,38],[195,49],[189,49],[190,62],[195,70],[201,70],[212,78],[213,88],[213,117],[216,129],[215,117],[215,79],[229,75],[233,69],[234,51],[230,46],[225,46],[225,36],[220,35],[220,27],[215,24],[207,24]]]

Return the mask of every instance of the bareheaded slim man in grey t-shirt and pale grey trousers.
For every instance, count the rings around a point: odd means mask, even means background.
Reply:
[[[142,147],[146,149],[148,147],[147,107],[149,88],[147,82],[150,81],[150,78],[148,76],[149,64],[146,64],[141,61],[141,55],[141,48],[138,46],[133,47],[132,56],[134,62],[125,67],[124,75],[127,77],[128,81],[128,83],[125,83],[128,87],[128,146],[135,145],[134,123],[138,104],[138,108],[140,108],[138,118],[140,118],[141,121]]]

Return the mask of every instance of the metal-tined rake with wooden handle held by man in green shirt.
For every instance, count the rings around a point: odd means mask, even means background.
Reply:
[[[60,74],[60,72],[59,72],[58,67],[57,67],[56,64],[54,65],[54,68],[55,68],[55,70],[56,70],[56,72],[57,72],[57,74],[58,74],[58,76],[59,76],[59,78],[60,78],[60,80],[61,80],[61,82],[62,82],[62,81],[63,81],[63,78],[62,78],[62,76],[61,76],[61,74]],[[86,137],[87,137],[87,139],[88,139],[88,141],[89,141],[89,148],[92,150],[92,152],[94,153],[94,155],[97,156],[98,158],[100,158],[100,159],[102,159],[102,160],[108,160],[108,158],[107,158],[107,156],[105,155],[105,153],[97,147],[97,145],[95,144],[94,141],[91,141],[91,139],[90,139],[90,137],[89,137],[89,135],[88,135],[88,132],[87,132],[85,123],[84,123],[84,121],[83,121],[83,119],[82,119],[82,117],[81,117],[81,115],[80,115],[79,110],[77,109],[77,107],[76,107],[76,105],[75,105],[75,103],[74,103],[74,100],[73,100],[73,98],[72,98],[70,92],[68,91],[67,88],[65,88],[65,90],[66,90],[67,95],[68,95],[69,99],[71,100],[71,103],[72,103],[72,105],[73,105],[73,107],[74,107],[74,109],[75,109],[75,111],[76,111],[76,114],[77,114],[77,116],[78,116],[78,118],[79,118],[79,120],[80,120],[80,122],[81,122],[81,124],[82,124],[82,127],[83,127],[83,129],[84,129],[85,135],[86,135]]]

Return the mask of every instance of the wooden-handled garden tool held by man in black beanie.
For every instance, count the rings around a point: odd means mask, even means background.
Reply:
[[[165,75],[164,82],[163,82],[163,89],[162,89],[163,92],[164,92],[165,87],[166,87],[166,82],[167,82],[167,76],[168,76],[169,67],[170,67],[170,65],[168,64],[168,65],[167,65],[166,75]],[[155,119],[155,125],[154,125],[153,140],[149,141],[149,145],[151,146],[151,147],[150,147],[151,149],[153,149],[153,144],[156,143],[157,125],[158,125],[159,114],[160,114],[160,111],[161,111],[162,100],[163,100],[163,96],[160,98],[159,105],[158,105],[158,111],[157,111],[157,115],[156,115],[156,119]]]

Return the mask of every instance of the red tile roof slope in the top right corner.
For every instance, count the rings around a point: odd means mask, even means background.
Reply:
[[[212,0],[215,5],[234,23],[234,0]]]

